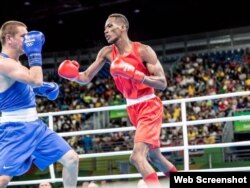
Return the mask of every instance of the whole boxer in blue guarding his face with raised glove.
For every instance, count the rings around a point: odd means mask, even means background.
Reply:
[[[43,81],[43,33],[28,32],[22,22],[7,21],[1,27],[0,41],[0,188],[13,176],[26,173],[32,163],[44,170],[56,161],[63,165],[64,187],[76,187],[77,153],[36,111],[36,95],[55,100],[59,93],[56,83]],[[29,68],[19,61],[24,53]]]

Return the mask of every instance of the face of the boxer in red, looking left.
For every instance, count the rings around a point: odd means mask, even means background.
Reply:
[[[110,17],[107,19],[104,27],[104,34],[109,44],[115,43],[124,31],[123,25],[116,21],[116,18]]]

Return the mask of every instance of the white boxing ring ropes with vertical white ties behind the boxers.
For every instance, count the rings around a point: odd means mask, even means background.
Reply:
[[[204,100],[221,99],[221,98],[228,98],[228,97],[246,96],[246,95],[250,95],[250,91],[163,101],[164,105],[178,104],[178,103],[181,104],[182,121],[174,122],[174,123],[163,123],[162,128],[173,127],[173,126],[182,127],[183,146],[161,148],[161,151],[170,152],[170,151],[182,151],[183,150],[184,152],[184,170],[183,171],[193,171],[189,169],[189,150],[191,149],[223,148],[223,147],[230,147],[230,146],[249,146],[250,141],[240,141],[240,142],[232,142],[232,143],[216,143],[216,144],[209,144],[209,145],[206,145],[206,144],[189,145],[188,137],[187,137],[187,126],[200,125],[200,124],[205,124],[205,123],[229,122],[229,121],[236,121],[236,120],[250,120],[250,115],[187,121],[186,103],[204,101]],[[90,112],[102,112],[102,111],[110,111],[110,110],[121,110],[125,108],[126,108],[126,105],[120,105],[120,106],[109,106],[109,107],[99,107],[99,108],[90,108],[90,109],[60,111],[60,112],[49,112],[49,113],[40,113],[39,117],[48,117],[49,127],[53,129],[53,117],[54,116],[81,114],[81,113],[90,113]],[[62,137],[69,137],[69,136],[78,136],[78,135],[87,135],[87,134],[88,135],[104,134],[104,133],[111,133],[111,132],[125,132],[125,131],[134,131],[134,130],[135,130],[134,127],[122,127],[122,128],[97,129],[97,130],[86,130],[86,131],[76,131],[76,132],[62,132],[58,134]],[[130,151],[115,151],[115,152],[108,152],[108,153],[80,154],[79,158],[81,159],[81,158],[94,158],[94,157],[107,157],[107,156],[122,156],[122,155],[129,155],[131,154],[131,152],[132,151],[130,150]],[[49,171],[50,171],[50,177],[51,177],[50,179],[12,181],[10,182],[9,185],[12,186],[12,185],[38,184],[40,182],[45,182],[45,181],[62,182],[62,178],[57,178],[55,175],[54,165],[50,165]],[[250,166],[249,167],[199,169],[195,171],[250,171]],[[163,176],[163,173],[158,172],[158,175]],[[107,175],[107,176],[105,175],[105,176],[78,177],[78,181],[92,181],[92,180],[94,181],[94,180],[104,180],[104,179],[115,180],[115,179],[140,178],[140,177],[141,175],[139,173],[133,173],[133,174],[119,174],[119,175]]]

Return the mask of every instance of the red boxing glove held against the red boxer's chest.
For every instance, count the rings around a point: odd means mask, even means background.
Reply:
[[[112,76],[122,76],[126,79],[133,79],[137,82],[143,82],[145,74],[135,69],[133,65],[130,65],[120,58],[116,58],[110,66],[110,73]]]

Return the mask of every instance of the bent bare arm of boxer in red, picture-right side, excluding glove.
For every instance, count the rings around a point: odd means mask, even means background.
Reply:
[[[143,83],[155,89],[164,90],[167,87],[167,80],[163,67],[155,53],[155,51],[147,45],[142,45],[139,48],[139,54],[150,73],[144,77]]]

